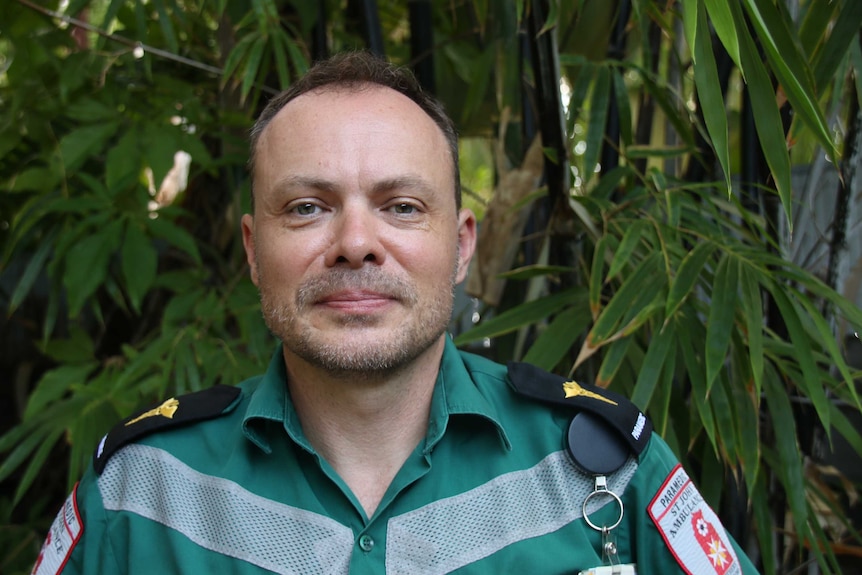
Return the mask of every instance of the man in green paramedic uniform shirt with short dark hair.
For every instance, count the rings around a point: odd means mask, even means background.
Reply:
[[[111,431],[37,573],[754,572],[631,404],[455,349],[457,146],[365,54],[269,103],[242,235],[282,346]]]

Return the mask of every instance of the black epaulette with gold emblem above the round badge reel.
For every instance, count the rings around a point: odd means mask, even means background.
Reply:
[[[652,422],[622,395],[596,385],[567,380],[528,363],[510,362],[508,368],[509,382],[519,394],[598,416],[636,455],[649,443]]]

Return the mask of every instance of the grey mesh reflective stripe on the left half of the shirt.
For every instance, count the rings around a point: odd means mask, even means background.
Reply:
[[[195,471],[161,449],[123,448],[99,477],[99,490],[106,509],[157,521],[201,547],[276,573],[349,569],[350,528]]]

